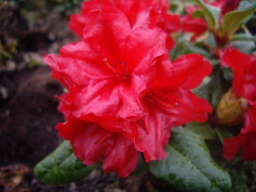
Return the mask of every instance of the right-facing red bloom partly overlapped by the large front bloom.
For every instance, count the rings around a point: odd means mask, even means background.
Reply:
[[[209,75],[210,63],[196,54],[184,55],[173,63],[168,58],[168,54],[161,56],[149,71],[153,76],[143,92],[144,113],[141,116],[123,121],[113,116],[88,114],[80,119],[120,132],[135,143],[137,150],[144,152],[146,162],[166,157],[164,146],[169,141],[172,126],[190,121],[204,122],[207,112],[212,112],[207,101],[189,91]]]

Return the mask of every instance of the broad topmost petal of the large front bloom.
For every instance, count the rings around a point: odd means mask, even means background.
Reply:
[[[123,61],[122,51],[130,35],[130,24],[126,15],[114,7],[102,7],[101,10],[86,15],[83,31],[85,43],[97,54],[112,61]]]

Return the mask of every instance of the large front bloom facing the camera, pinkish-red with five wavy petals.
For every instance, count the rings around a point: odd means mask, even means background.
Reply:
[[[63,46],[59,57],[44,58],[53,78],[69,89],[62,112],[69,118],[142,114],[139,96],[151,76],[149,68],[167,52],[165,33],[131,30],[126,15],[114,7],[89,12],[86,19],[82,42]]]

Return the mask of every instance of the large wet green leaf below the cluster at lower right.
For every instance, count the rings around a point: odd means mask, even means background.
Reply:
[[[150,171],[180,191],[230,191],[227,172],[215,164],[205,141],[187,129],[171,137],[167,157],[149,163]]]

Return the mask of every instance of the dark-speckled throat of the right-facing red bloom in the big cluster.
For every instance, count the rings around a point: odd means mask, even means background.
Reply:
[[[166,91],[166,88],[162,89],[153,89],[149,94],[146,95],[146,99],[148,101],[151,101],[152,103],[155,103],[155,105],[160,105],[162,107],[176,107],[178,106],[178,103],[171,103],[170,99],[168,97],[168,91]]]

